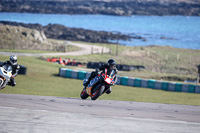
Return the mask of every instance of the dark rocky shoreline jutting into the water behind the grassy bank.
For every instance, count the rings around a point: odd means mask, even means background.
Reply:
[[[109,40],[145,40],[145,38],[141,36],[130,36],[123,35],[121,33],[112,33],[106,31],[92,31],[81,28],[69,28],[59,24],[49,24],[47,26],[42,26],[39,24],[25,24],[7,21],[0,21],[0,24],[22,26],[30,29],[36,29],[44,32],[47,38],[60,40],[84,41],[93,43],[111,43]]]

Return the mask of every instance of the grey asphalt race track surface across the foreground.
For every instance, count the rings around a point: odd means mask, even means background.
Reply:
[[[199,133],[200,106],[0,94],[0,133]]]

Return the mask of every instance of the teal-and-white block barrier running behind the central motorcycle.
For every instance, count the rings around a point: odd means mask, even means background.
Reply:
[[[60,68],[59,75],[64,78],[83,80],[89,78],[90,72]],[[141,79],[127,76],[117,76],[117,85],[150,88],[164,91],[200,93],[200,85],[183,84],[176,82],[157,81],[153,79]]]

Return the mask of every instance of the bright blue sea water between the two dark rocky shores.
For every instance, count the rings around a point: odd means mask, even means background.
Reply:
[[[119,41],[129,46],[169,45],[176,48],[200,49],[200,17],[195,16],[109,16],[0,13],[0,21],[62,24],[67,27],[97,31],[121,32],[145,37]],[[162,37],[168,39],[161,39]]]

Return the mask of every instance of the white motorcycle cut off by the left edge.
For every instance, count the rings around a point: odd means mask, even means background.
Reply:
[[[5,88],[12,76],[12,67],[10,65],[3,65],[0,67],[0,90]]]

